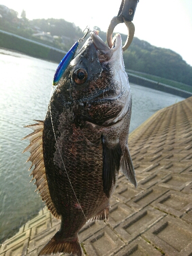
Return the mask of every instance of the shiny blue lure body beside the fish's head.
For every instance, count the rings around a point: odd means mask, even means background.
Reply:
[[[75,52],[79,46],[79,42],[77,41],[72,48],[67,52],[65,57],[60,61],[59,66],[56,69],[54,79],[53,79],[53,85],[56,86],[60,82],[60,78],[62,77],[63,73],[65,72],[67,66],[72,61],[72,58],[75,55]]]

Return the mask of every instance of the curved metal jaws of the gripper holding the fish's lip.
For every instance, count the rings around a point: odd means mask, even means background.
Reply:
[[[124,18],[123,18],[123,22],[124,22],[124,24],[126,24],[126,26],[128,28],[127,40],[126,40],[125,44],[123,45],[123,51],[125,51],[132,43],[132,39],[134,37],[134,32],[135,32],[135,26],[131,21],[126,21]],[[112,18],[112,20],[109,24],[108,32],[107,32],[107,41],[108,41],[109,48],[112,48],[112,46],[113,46],[113,44],[112,44],[113,30],[120,23],[122,23],[121,19],[119,19],[118,16],[115,16]]]

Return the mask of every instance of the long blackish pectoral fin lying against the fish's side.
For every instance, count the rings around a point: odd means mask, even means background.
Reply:
[[[116,174],[120,169],[121,147],[119,143],[110,145],[106,138],[103,142],[103,191],[109,197],[112,183],[115,183]]]

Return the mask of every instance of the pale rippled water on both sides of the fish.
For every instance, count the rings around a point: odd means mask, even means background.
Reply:
[[[44,120],[56,63],[0,49],[0,241],[12,235],[44,206],[36,187],[29,183],[21,141],[31,129],[24,125]],[[130,131],[157,110],[183,98],[131,85],[133,103]]]

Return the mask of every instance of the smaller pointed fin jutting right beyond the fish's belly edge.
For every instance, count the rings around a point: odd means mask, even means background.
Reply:
[[[130,156],[129,148],[125,147],[125,152],[121,161],[120,170],[125,174],[128,180],[137,187],[137,181],[135,179],[135,171],[132,164],[132,158]]]

